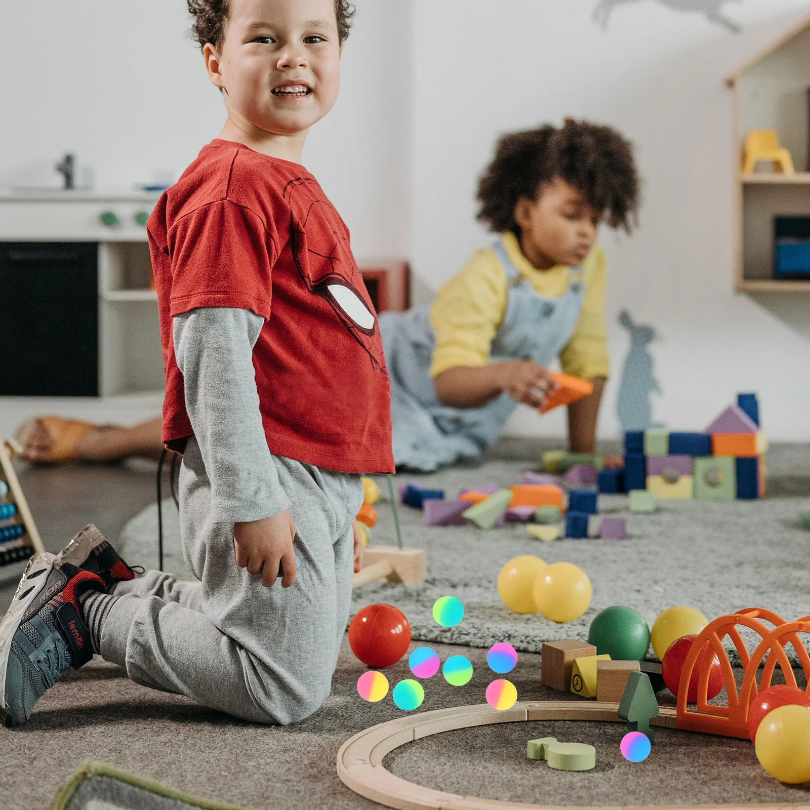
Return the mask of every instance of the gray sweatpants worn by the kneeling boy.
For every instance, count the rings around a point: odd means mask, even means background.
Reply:
[[[293,723],[330,692],[352,596],[357,475],[273,457],[292,505],[295,583],[262,586],[237,565],[233,524],[214,522],[192,437],[180,472],[183,555],[201,586],[167,573],[122,582],[101,633],[104,659],[139,684],[258,723]]]

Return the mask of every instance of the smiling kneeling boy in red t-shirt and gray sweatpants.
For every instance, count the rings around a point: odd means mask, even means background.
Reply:
[[[240,718],[305,718],[330,691],[360,565],[359,474],[394,469],[377,318],[347,228],[301,166],[338,95],[352,8],[188,4],[228,121],[148,232],[163,439],[183,454],[182,544],[202,585],[135,578],[95,527],[33,557],[0,624],[7,725],[93,652]]]

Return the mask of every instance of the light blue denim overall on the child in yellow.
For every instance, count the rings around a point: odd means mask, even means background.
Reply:
[[[563,295],[544,298],[514,266],[503,241],[492,250],[509,284],[506,312],[492,339],[492,361],[535,360],[548,366],[571,339],[582,312],[582,268],[570,269]],[[518,403],[501,394],[484,407],[462,410],[442,405],[430,377],[435,345],[430,308],[383,313],[379,323],[390,375],[397,466],[431,471],[458,458],[480,455],[501,435]]]

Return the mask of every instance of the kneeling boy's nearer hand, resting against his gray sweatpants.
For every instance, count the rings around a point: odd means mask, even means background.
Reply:
[[[237,550],[237,565],[249,573],[262,573],[262,585],[271,588],[279,577],[279,564],[284,569],[281,586],[288,588],[296,581],[296,552],[292,540],[296,524],[292,514],[284,509],[271,518],[249,523],[235,523],[233,545]]]

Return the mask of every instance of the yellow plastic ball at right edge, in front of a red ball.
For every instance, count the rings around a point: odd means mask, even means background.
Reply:
[[[779,782],[810,781],[810,709],[779,706],[765,714],[754,748],[760,765]]]

